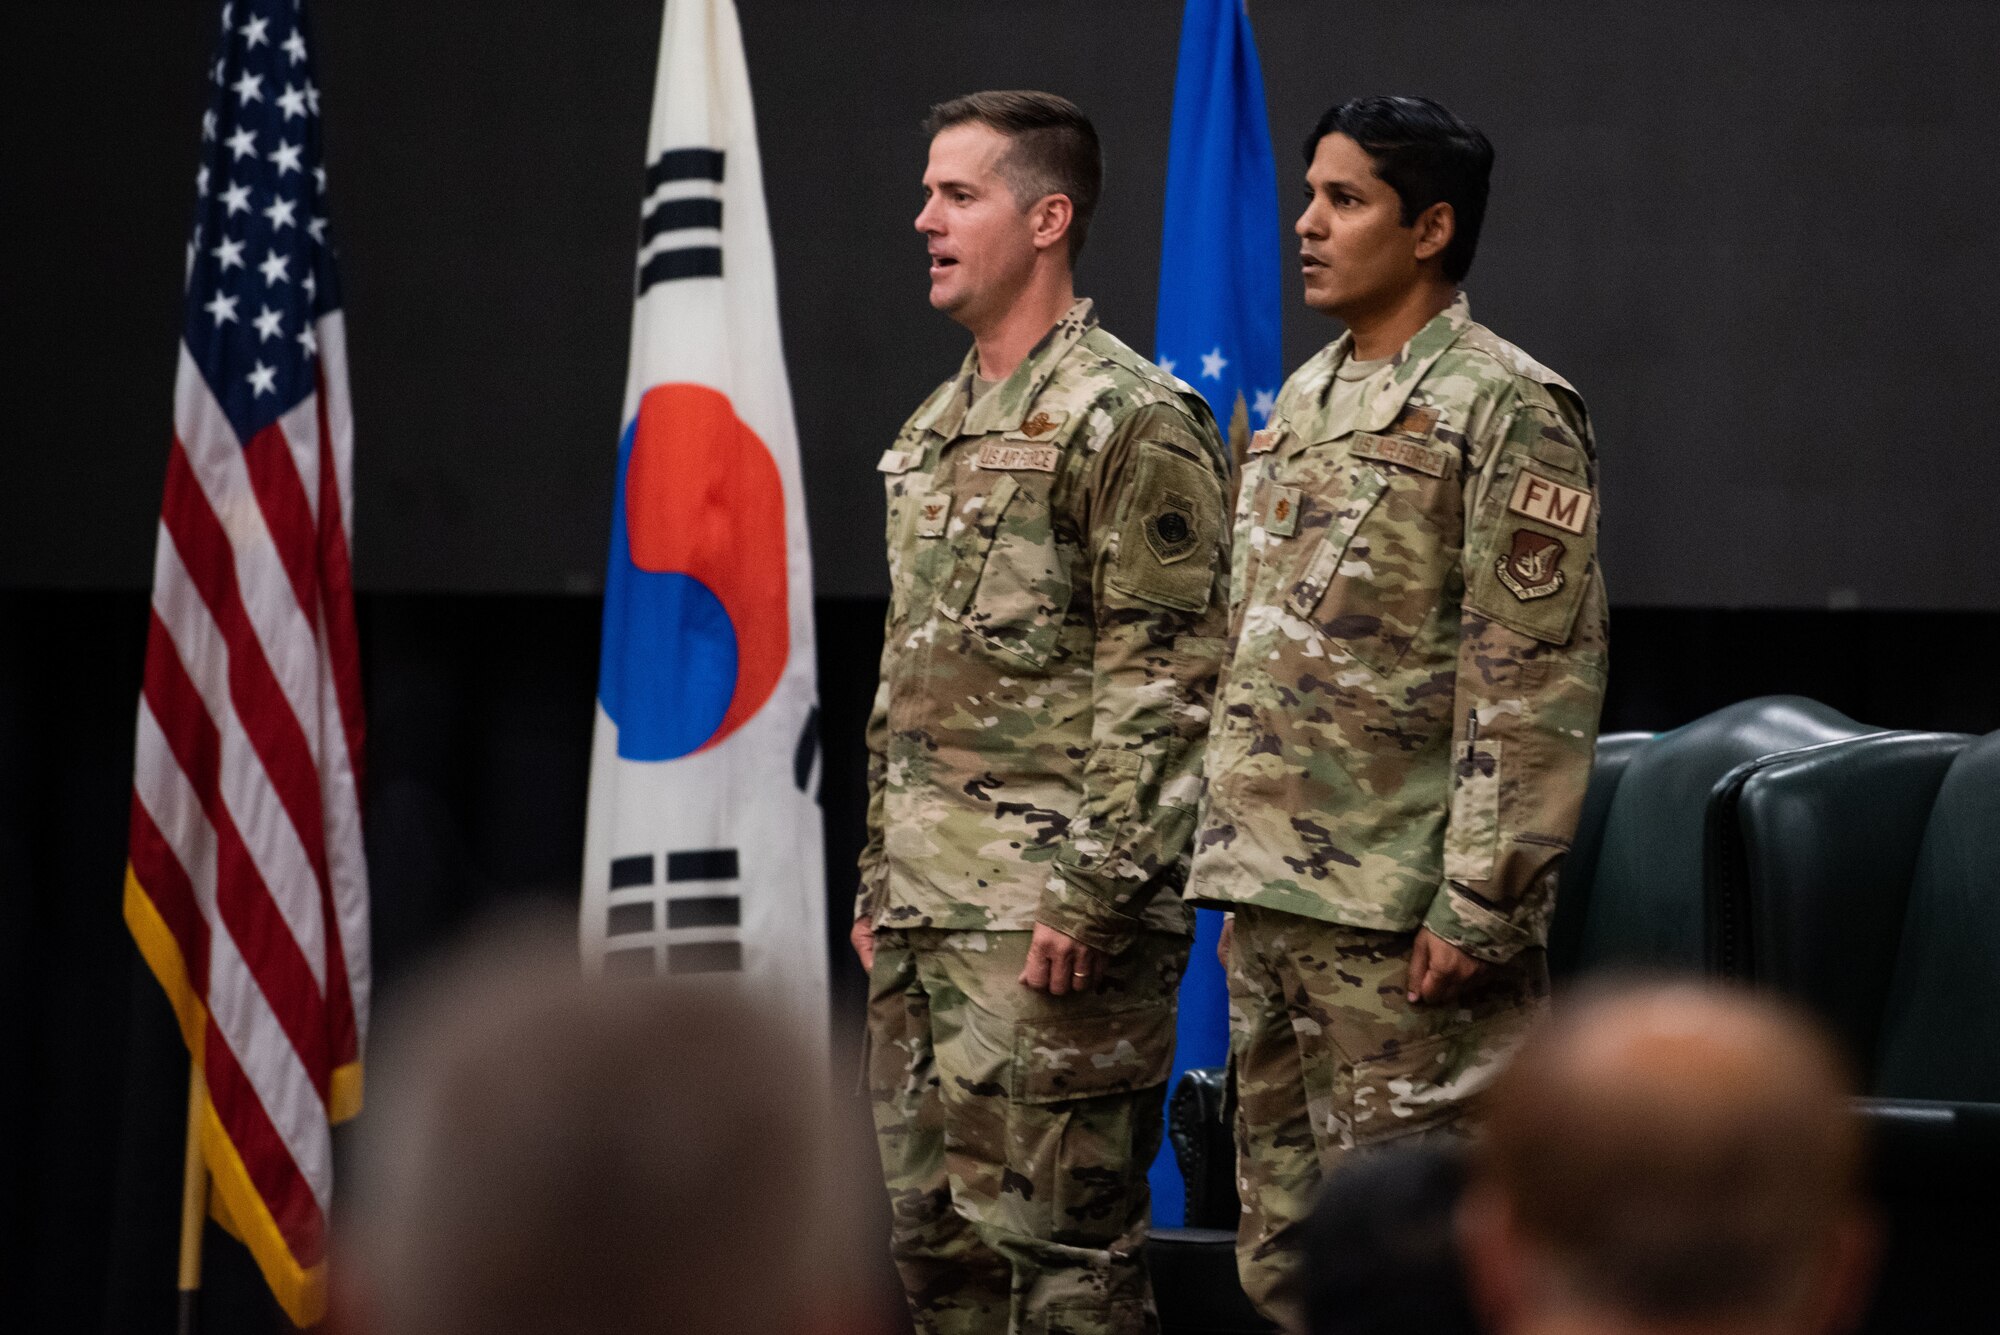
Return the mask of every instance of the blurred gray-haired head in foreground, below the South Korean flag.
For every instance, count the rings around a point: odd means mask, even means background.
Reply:
[[[866,1329],[798,1035],[740,981],[576,973],[572,941],[510,933],[406,997],[342,1197],[332,1329]]]

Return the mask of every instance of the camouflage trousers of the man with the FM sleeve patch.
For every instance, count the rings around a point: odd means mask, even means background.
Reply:
[[[1320,1181],[1350,1153],[1466,1135],[1548,997],[1548,959],[1522,951],[1456,1001],[1410,1005],[1414,931],[1234,915],[1236,1269],[1258,1311],[1298,1331],[1298,1243]]]

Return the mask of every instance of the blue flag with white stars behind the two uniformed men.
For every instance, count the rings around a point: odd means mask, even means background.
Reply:
[[[1166,156],[1158,360],[1208,400],[1242,460],[1242,436],[1264,426],[1284,380],[1278,352],[1278,168],[1264,116],[1250,16],[1242,0],[1188,0],[1174,76],[1174,140]],[[1180,985],[1180,1031],[1168,1091],[1190,1067],[1228,1057],[1228,989],[1216,963],[1222,915],[1196,915],[1194,957]],[[1186,1221],[1172,1147],[1152,1165],[1152,1221]]]

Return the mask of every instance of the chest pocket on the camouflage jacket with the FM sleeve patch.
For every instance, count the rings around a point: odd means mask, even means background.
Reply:
[[[1356,454],[1368,450],[1370,438],[1354,446]],[[1464,526],[1456,476],[1380,462],[1380,450],[1372,458],[1346,470],[1346,496],[1332,502],[1326,534],[1286,606],[1332,648],[1384,673],[1410,652],[1438,606],[1456,598]]]

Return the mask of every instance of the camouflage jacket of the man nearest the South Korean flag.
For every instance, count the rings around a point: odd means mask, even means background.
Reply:
[[[1228,462],[1206,404],[1076,302],[882,456],[890,608],[856,915],[1102,949],[1180,899],[1222,658]]]

